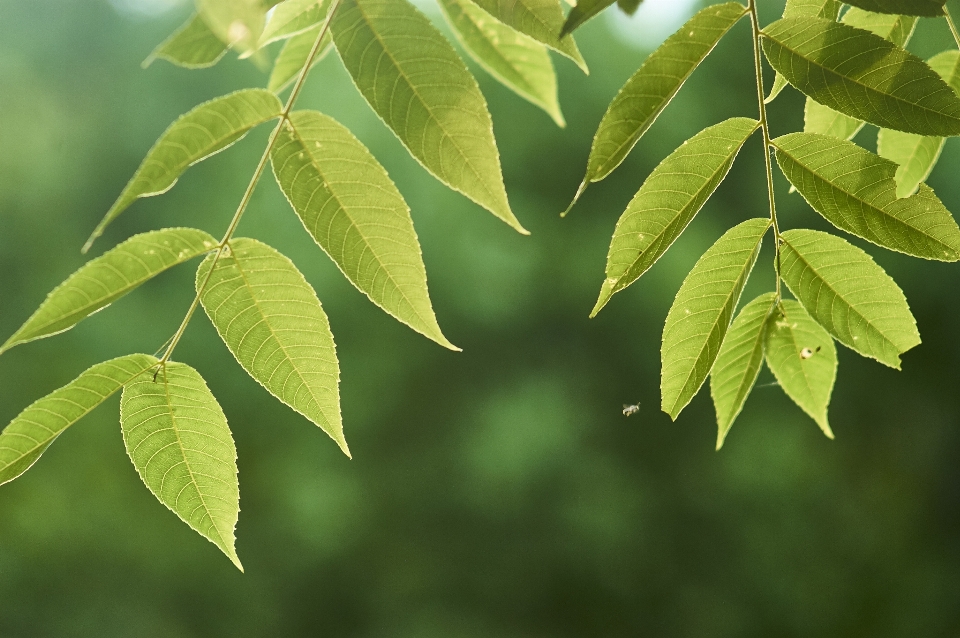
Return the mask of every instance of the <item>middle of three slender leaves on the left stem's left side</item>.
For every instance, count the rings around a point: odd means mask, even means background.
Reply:
[[[21,343],[69,330],[164,270],[216,248],[217,240],[193,228],[135,235],[86,263],[47,295],[0,354]]]

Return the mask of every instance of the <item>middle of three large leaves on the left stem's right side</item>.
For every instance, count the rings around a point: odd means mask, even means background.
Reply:
[[[390,315],[457,350],[437,325],[410,209],[370,151],[333,118],[297,111],[271,160],[307,232],[347,279]]]

